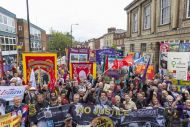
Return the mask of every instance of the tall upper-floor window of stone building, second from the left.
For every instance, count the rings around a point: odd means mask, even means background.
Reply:
[[[150,5],[144,8],[144,29],[150,28]]]

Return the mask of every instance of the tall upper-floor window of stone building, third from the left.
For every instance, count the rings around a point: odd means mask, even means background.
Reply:
[[[161,17],[160,24],[168,24],[170,22],[170,0],[161,0]]]

